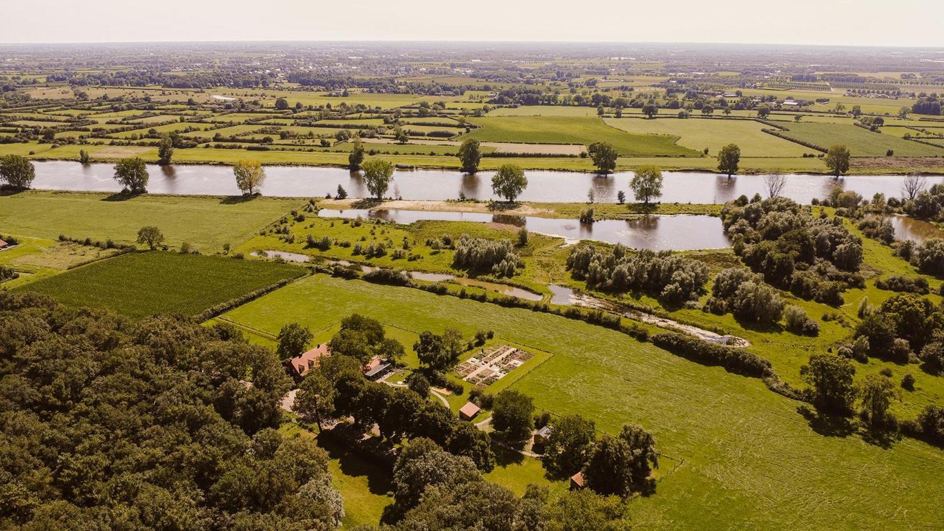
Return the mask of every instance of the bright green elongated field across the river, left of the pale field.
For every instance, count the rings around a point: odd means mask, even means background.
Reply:
[[[471,118],[480,125],[463,139],[498,142],[581,143],[607,141],[620,155],[633,157],[674,156],[698,157],[697,152],[676,145],[677,137],[669,135],[636,135],[604,124],[598,117],[571,116],[505,116]]]

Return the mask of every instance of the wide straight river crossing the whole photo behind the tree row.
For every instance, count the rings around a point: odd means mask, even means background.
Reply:
[[[80,164],[68,160],[36,161],[36,179],[33,188],[69,191],[120,191],[114,181],[111,164]],[[148,165],[150,179],[147,190],[151,193],[236,195],[236,181],[231,166],[175,164]],[[285,197],[332,196],[341,185],[349,197],[366,197],[361,174],[344,168],[313,166],[267,166],[267,178],[261,187],[265,195]],[[497,199],[492,192],[494,172],[461,174],[449,170],[397,170],[394,182],[387,192],[390,197],[407,200],[456,199],[464,193],[469,199]],[[528,188],[521,201],[546,203],[575,203],[587,200],[594,192],[598,202],[615,203],[616,193],[624,191],[632,201],[629,182],[632,172],[600,176],[579,172],[526,172]],[[723,204],[744,194],[766,195],[763,175],[725,175],[698,172],[664,172],[663,203],[716,203]],[[876,192],[886,197],[901,197],[902,175],[856,175],[834,179],[828,175],[787,175],[783,195],[808,204],[814,198],[826,197],[839,186],[870,198]],[[928,176],[928,186],[944,182],[944,177]]]

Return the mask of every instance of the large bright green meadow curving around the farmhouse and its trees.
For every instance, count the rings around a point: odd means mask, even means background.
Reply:
[[[225,314],[276,333],[352,312],[419,332],[458,326],[554,356],[514,383],[539,408],[615,433],[639,423],[682,464],[631,503],[645,528],[934,528],[944,454],[916,440],[872,445],[818,433],[754,378],[672,356],[601,327],[528,310],[315,275]],[[822,431],[822,428],[817,426]],[[874,489],[874,485],[893,488]]]

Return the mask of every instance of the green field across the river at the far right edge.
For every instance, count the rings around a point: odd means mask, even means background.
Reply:
[[[889,149],[895,157],[944,157],[944,149],[915,141],[906,141],[894,135],[873,133],[851,124],[787,124],[789,131],[780,131],[784,136],[808,141],[828,148],[836,143],[849,146],[852,157],[885,157]]]

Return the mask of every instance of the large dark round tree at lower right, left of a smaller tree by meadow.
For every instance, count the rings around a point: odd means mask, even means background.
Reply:
[[[855,367],[845,357],[814,354],[800,375],[810,385],[813,405],[822,413],[850,415],[855,400]]]

